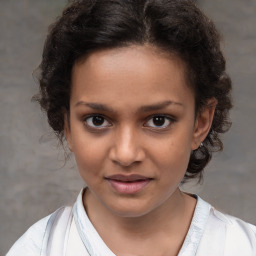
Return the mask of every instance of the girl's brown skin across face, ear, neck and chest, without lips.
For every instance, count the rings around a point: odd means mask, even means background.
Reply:
[[[196,200],[179,184],[216,100],[196,116],[185,74],[181,59],[149,45],[97,51],[73,68],[65,135],[88,185],[87,214],[116,255],[177,255],[189,229]],[[123,194],[106,179],[115,174],[150,181]]]

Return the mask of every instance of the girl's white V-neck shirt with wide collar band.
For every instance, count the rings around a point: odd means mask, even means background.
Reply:
[[[35,223],[6,256],[115,256],[89,220],[82,191],[72,212],[69,209],[61,208]],[[54,224],[52,235],[49,223],[58,219],[60,212],[67,217]],[[50,238],[45,239],[47,232]],[[43,248],[49,241],[51,252]],[[178,256],[256,256],[256,227],[217,211],[197,196],[193,219]]]

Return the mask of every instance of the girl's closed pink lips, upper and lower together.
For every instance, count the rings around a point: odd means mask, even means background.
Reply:
[[[116,174],[107,176],[106,180],[117,193],[135,194],[142,191],[152,181],[152,178],[138,174]]]

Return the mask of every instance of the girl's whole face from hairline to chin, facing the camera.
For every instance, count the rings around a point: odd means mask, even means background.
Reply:
[[[195,117],[179,58],[149,46],[102,50],[73,68],[65,134],[93,200],[142,216],[177,194],[209,113]]]

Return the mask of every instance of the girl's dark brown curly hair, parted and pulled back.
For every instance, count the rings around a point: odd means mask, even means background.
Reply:
[[[72,1],[49,28],[38,68],[40,92],[34,99],[63,142],[74,64],[97,50],[144,44],[176,54],[184,61],[189,86],[195,92],[196,113],[206,107],[208,99],[214,97],[218,102],[203,146],[191,152],[183,182],[201,180],[212,152],[223,149],[220,135],[231,124],[231,80],[225,72],[220,35],[192,1]]]

